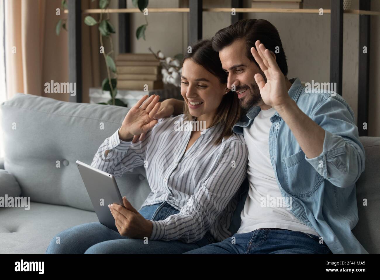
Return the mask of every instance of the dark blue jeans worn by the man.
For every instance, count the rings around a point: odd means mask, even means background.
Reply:
[[[184,254],[331,254],[331,251],[313,234],[287,229],[256,229]]]

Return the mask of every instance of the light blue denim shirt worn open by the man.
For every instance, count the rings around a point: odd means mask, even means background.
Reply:
[[[294,216],[318,232],[332,253],[367,253],[351,232],[358,222],[355,182],[365,162],[352,109],[339,94],[308,93],[299,78],[290,82],[289,96],[325,130],[325,139],[321,154],[307,158],[275,112],[268,143],[280,192],[292,202]],[[233,131],[243,134],[243,127],[250,126],[260,110],[252,107]]]

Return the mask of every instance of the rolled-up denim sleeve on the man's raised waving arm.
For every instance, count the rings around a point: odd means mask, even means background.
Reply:
[[[306,161],[337,187],[355,184],[364,171],[365,153],[350,106],[331,96],[316,109],[312,119],[325,130],[325,139],[321,154],[305,156]]]

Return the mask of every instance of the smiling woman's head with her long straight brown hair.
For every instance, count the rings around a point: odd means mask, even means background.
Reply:
[[[222,132],[215,141],[220,143],[232,135],[232,127],[239,120],[241,109],[237,95],[227,89],[227,73],[222,69],[219,54],[212,49],[211,40],[199,40],[192,52],[182,61],[181,94],[185,100],[185,120],[206,120],[209,126],[220,123]],[[215,89],[223,92],[215,94]],[[215,110],[209,118],[204,114]]]

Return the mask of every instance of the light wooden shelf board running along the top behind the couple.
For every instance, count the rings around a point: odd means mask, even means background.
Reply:
[[[100,14],[101,9],[82,10],[82,14]],[[231,13],[231,8],[204,8],[204,12]],[[139,9],[108,9],[108,13],[141,13]],[[148,8],[149,13],[189,13],[190,8]],[[68,10],[64,11],[68,14]],[[277,9],[277,8],[236,8],[236,13],[293,13],[293,14],[318,14],[319,9]],[[323,9],[324,14],[330,14],[330,9]],[[379,16],[378,11],[346,10],[345,14],[359,14]]]

